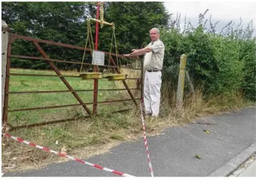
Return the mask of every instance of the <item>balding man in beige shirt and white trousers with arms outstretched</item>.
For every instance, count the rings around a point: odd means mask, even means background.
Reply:
[[[158,28],[150,30],[151,43],[145,48],[132,49],[132,53],[124,54],[126,57],[138,57],[144,55],[144,106],[147,115],[158,116],[161,84],[162,63],[165,54],[165,45],[159,40]]]

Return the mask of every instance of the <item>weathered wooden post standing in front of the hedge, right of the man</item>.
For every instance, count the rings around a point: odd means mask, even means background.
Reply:
[[[186,71],[186,55],[182,54],[180,56],[180,72],[179,72],[179,81],[178,81],[178,87],[177,87],[177,102],[176,102],[177,108],[181,108],[183,105],[185,71]]]

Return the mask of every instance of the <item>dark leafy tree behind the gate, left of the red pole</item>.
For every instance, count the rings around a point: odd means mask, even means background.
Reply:
[[[86,34],[86,16],[91,15],[92,4],[85,2],[3,2],[2,19],[13,33],[28,37],[52,40],[59,43],[83,46]],[[82,51],[54,45],[41,45],[51,58],[81,61]],[[34,45],[24,40],[13,43],[13,54],[39,56]],[[22,61],[22,63],[21,63]],[[41,60],[11,60],[11,66],[31,69],[47,69]],[[61,69],[67,64],[57,63]],[[76,66],[68,65],[68,69]]]

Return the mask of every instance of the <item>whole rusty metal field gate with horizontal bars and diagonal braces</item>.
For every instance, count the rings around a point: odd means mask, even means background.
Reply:
[[[7,28],[2,28],[2,31],[8,31]],[[15,40],[26,40],[31,42],[32,44],[34,44],[34,46],[37,48],[37,51],[40,52],[40,54],[43,57],[32,57],[32,56],[23,56],[23,55],[17,55],[17,54],[12,54],[12,43]],[[79,75],[62,75],[60,70],[57,68],[57,66],[55,66],[54,62],[58,62],[58,63],[72,63],[72,64],[79,64],[82,66],[86,66],[86,65],[90,65],[92,66],[91,63],[80,63],[80,62],[75,62],[75,61],[67,61],[67,60],[57,60],[57,59],[51,59],[47,56],[46,52],[43,51],[43,48],[40,46],[39,43],[43,43],[43,44],[48,44],[48,45],[57,45],[57,46],[61,46],[61,47],[65,47],[65,48],[73,48],[73,49],[78,49],[78,50],[83,50],[83,51],[89,51],[91,52],[92,50],[90,48],[83,48],[81,46],[76,46],[76,45],[69,45],[69,44],[64,44],[64,43],[56,43],[53,41],[49,41],[49,40],[40,40],[40,39],[35,39],[35,38],[31,38],[31,37],[25,37],[25,36],[21,36],[18,34],[12,34],[12,33],[8,33],[8,43],[7,43],[7,64],[6,64],[6,79],[5,79],[5,88],[4,88],[4,107],[3,107],[3,113],[2,113],[2,122],[3,122],[3,126],[4,126],[4,131],[6,126],[10,126],[10,130],[14,130],[17,128],[30,128],[30,127],[34,127],[34,126],[39,126],[39,125],[48,125],[48,124],[53,124],[53,123],[58,123],[58,122],[67,122],[67,121],[72,121],[72,120],[76,120],[76,119],[81,119],[81,117],[79,118],[71,118],[71,119],[61,119],[61,120],[54,120],[54,121],[49,121],[49,122],[40,122],[40,123],[35,123],[35,124],[29,124],[29,125],[17,125],[17,126],[12,126],[10,124],[8,124],[8,114],[9,113],[13,113],[13,112],[17,112],[17,111],[31,111],[31,110],[41,110],[41,109],[52,109],[52,108],[61,108],[61,107],[72,107],[72,106],[82,106],[83,109],[86,111],[86,113],[88,114],[87,116],[82,116],[82,118],[86,118],[86,117],[91,117],[94,114],[97,114],[97,104],[109,104],[109,103],[113,103],[113,102],[120,102],[120,101],[133,101],[133,103],[135,104],[136,107],[138,107],[138,100],[140,100],[142,98],[142,84],[143,84],[143,60],[141,59],[136,59],[141,63],[140,68],[133,68],[134,70],[139,70],[141,73],[141,76],[139,78],[127,78],[129,80],[135,80],[137,81],[137,87],[135,88],[129,88],[127,81],[123,80],[122,83],[124,84],[124,88],[123,89],[99,89],[98,86],[95,86],[95,83],[98,82],[98,79],[94,79],[94,90],[74,90],[73,87],[71,87],[70,83],[65,79],[65,77],[72,77],[72,78],[79,78]],[[120,70],[118,69],[117,63],[115,63],[115,60],[113,58],[113,56],[118,56],[120,58],[126,58],[124,57],[124,55],[116,55],[116,54],[111,54],[109,52],[103,51],[106,55],[108,55],[109,59],[110,59],[110,63],[112,64],[111,66],[105,66],[108,68],[112,68],[115,69],[115,72],[117,72],[118,74],[121,74]],[[15,57],[15,58],[19,58],[19,59],[23,59],[23,60],[44,60],[46,61],[46,63],[49,63],[50,68],[56,73],[56,75],[37,75],[37,74],[22,74],[22,73],[10,73],[10,60]],[[129,67],[124,67],[124,68],[128,68],[128,69],[132,69]],[[9,89],[9,85],[10,85],[10,76],[40,76],[40,77],[58,77],[61,79],[61,81],[64,83],[64,85],[67,87],[67,90],[44,90],[44,91],[10,91]],[[96,87],[96,88],[95,88]],[[122,100],[110,100],[110,101],[98,101],[97,100],[97,96],[98,96],[98,92],[100,91],[114,91],[114,90],[123,90],[123,91],[127,91],[129,94],[129,98],[127,99],[122,99]],[[135,98],[135,96],[132,94],[132,90],[140,90],[140,97],[139,98]],[[28,94],[32,94],[32,93],[52,93],[52,92],[71,92],[73,94],[73,97],[76,98],[76,100],[79,102],[79,104],[65,104],[65,105],[57,105],[57,106],[49,106],[49,107],[30,107],[30,108],[22,108],[22,109],[9,109],[8,108],[8,102],[9,102],[9,95],[13,95],[13,94],[24,94],[24,93],[28,93]],[[94,101],[93,102],[86,102],[83,101],[82,98],[80,98],[80,96],[78,95],[77,92],[94,92]],[[93,110],[89,110],[88,105],[91,104],[93,105]]]

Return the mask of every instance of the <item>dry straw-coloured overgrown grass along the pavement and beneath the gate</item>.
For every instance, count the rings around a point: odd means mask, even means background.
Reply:
[[[84,82],[73,81],[73,83],[77,83],[79,86],[79,84]],[[86,84],[87,83],[88,82],[86,81]],[[16,85],[18,85],[17,81]],[[15,87],[16,85],[13,86]],[[29,84],[29,86],[34,87],[32,84]],[[38,86],[40,85],[38,84]],[[84,85],[84,87],[90,88],[91,86]],[[84,87],[80,88],[85,89]],[[109,84],[109,87],[114,86],[110,86]],[[56,88],[54,88],[54,90]],[[78,89],[79,87],[76,88]],[[18,90],[21,89],[18,88]],[[115,97],[118,96],[112,96],[112,98]],[[170,85],[167,85],[164,82],[162,84],[162,104],[160,109],[162,116],[157,119],[146,119],[147,135],[161,134],[164,128],[193,122],[195,119],[199,119],[209,114],[237,110],[252,105],[250,101],[244,100],[237,92],[219,96],[209,96],[206,100],[205,96],[202,95],[201,90],[195,90],[195,92],[185,94],[183,108],[177,110],[175,107],[175,98],[175,90],[172,90]],[[22,98],[19,100],[22,100]],[[48,102],[51,102],[50,98],[41,98],[40,100],[41,103],[46,103],[47,100],[49,100]],[[56,100],[61,100],[61,98],[57,98]],[[13,105],[18,104],[13,101]],[[121,107],[121,104],[119,106],[113,104],[109,105],[109,107],[116,109]],[[104,112],[107,112],[107,110]],[[64,113],[63,116],[66,117],[67,114],[76,116],[78,111],[73,109],[69,110],[69,112],[62,111],[62,113]],[[48,118],[58,118],[58,116],[61,115],[60,112],[58,113],[55,111],[55,113],[44,113],[42,116],[37,116],[38,118],[45,119],[46,116],[48,116]],[[25,116],[23,117],[23,121],[25,121],[26,118]],[[11,131],[10,134],[34,142],[37,145],[47,146],[55,151],[67,150],[66,152],[70,155],[79,158],[87,158],[95,154],[107,152],[109,151],[109,148],[118,145],[120,142],[134,141],[141,137],[143,133],[141,130],[139,111],[132,110],[129,111],[129,113],[101,113],[98,116],[94,116],[94,118],[80,119],[74,122],[64,122],[37,128],[20,129]],[[5,166],[4,172],[36,169],[37,167],[46,166],[49,163],[57,163],[65,160],[67,159],[64,157],[54,156],[44,151],[40,151],[37,148],[31,148],[28,145],[13,142],[12,139],[4,138],[4,140],[2,140],[2,161],[3,166]],[[8,169],[8,166],[13,166],[13,169]]]

